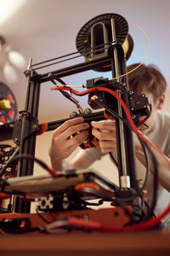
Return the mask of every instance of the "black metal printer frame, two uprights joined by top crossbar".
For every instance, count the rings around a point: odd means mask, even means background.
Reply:
[[[127,73],[126,69],[126,59],[122,51],[122,47],[119,44],[112,44],[110,46],[111,54],[96,59],[94,61],[86,61],[71,67],[65,67],[53,72],[39,74],[37,73],[32,65],[31,61],[29,67],[26,70],[27,78],[27,92],[26,92],[26,106],[25,110],[20,112],[21,127],[20,127],[20,154],[31,154],[35,155],[36,137],[38,129],[38,107],[39,107],[39,97],[41,84],[50,81],[51,75],[53,79],[63,78],[72,74],[82,73],[90,69],[97,67],[102,67],[111,64],[112,77],[119,77],[120,75]],[[116,55],[116,59],[115,59]],[[127,84],[127,77],[123,77],[123,83]],[[119,82],[119,79],[117,80]],[[127,84],[128,87],[128,84]],[[128,99],[124,98],[125,103],[128,106]],[[103,115],[101,114],[101,119]],[[95,120],[95,113],[91,113],[91,120]],[[62,123],[62,120],[59,120]],[[57,122],[57,125],[59,125]],[[51,123],[51,127],[48,129],[52,130],[57,127],[57,125]],[[15,143],[17,143],[17,139]],[[138,189],[138,179],[136,174],[135,156],[133,148],[133,135],[132,131],[123,124],[122,120],[116,119],[116,140],[117,140],[117,159],[118,159],[118,172],[120,177],[120,183],[122,183],[121,177],[126,175],[130,178],[130,187],[127,189]],[[122,146],[123,141],[123,146]],[[34,163],[31,160],[22,159],[18,162],[18,176],[27,176],[33,174]],[[121,186],[122,190],[124,185]],[[129,192],[129,191],[128,191]],[[120,195],[122,196],[122,195]],[[125,193],[123,191],[123,196]],[[129,193],[127,195],[129,197]],[[133,199],[138,201],[138,198]],[[128,204],[133,204],[133,201],[128,201]],[[135,203],[136,204],[136,203]],[[14,202],[14,212],[30,212],[30,203],[23,201],[23,199],[16,198]]]

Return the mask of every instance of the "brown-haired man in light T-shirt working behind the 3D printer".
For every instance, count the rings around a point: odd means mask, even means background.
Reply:
[[[145,124],[148,129],[141,130],[143,135],[153,142],[157,148],[167,157],[163,159],[156,149],[152,149],[156,155],[159,185],[155,213],[161,212],[170,203],[170,114],[161,111],[165,100],[167,82],[159,69],[154,65],[140,65],[139,63],[127,67],[129,90],[136,90],[139,94],[144,93],[150,99],[151,114]],[[138,67],[138,68],[136,68]],[[116,125],[113,122],[92,121],[92,133],[99,139],[97,148],[80,149],[78,154],[71,160],[70,165],[76,169],[88,168],[95,160],[109,152],[116,152]],[[67,120],[54,131],[52,143],[49,148],[49,156],[55,171],[62,170],[63,162],[81,143],[88,137],[88,123],[82,117]],[[140,127],[139,127],[140,128]],[[103,132],[108,130],[110,132]],[[71,137],[71,135],[77,136]],[[137,159],[137,172],[139,179],[144,180],[144,151],[139,140],[134,136],[134,148]],[[150,203],[153,195],[152,181],[154,178],[154,165],[150,159],[150,176],[146,184],[147,201]],[[166,218],[165,226],[170,227],[170,218]]]

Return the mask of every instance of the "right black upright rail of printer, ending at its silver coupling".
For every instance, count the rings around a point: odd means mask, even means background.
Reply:
[[[111,32],[113,40],[113,59],[111,62],[112,65],[112,76],[116,77],[116,82],[120,82],[120,75],[126,73],[124,58],[121,60],[120,56],[117,54],[117,44],[116,44],[116,32],[115,32],[115,22],[114,19],[111,19]],[[121,62],[122,61],[122,62]],[[127,84],[127,79],[126,79]],[[128,84],[127,84],[128,86]],[[128,88],[127,88],[128,89]],[[122,97],[122,93],[119,90],[116,90],[116,93]],[[128,105],[128,99],[124,99]],[[117,102],[117,112],[121,117],[122,105],[120,102]],[[137,173],[136,173],[136,164],[134,157],[134,147],[133,147],[133,134],[132,131],[124,125],[122,120],[116,119],[116,141],[117,141],[117,157],[118,157],[118,170],[119,170],[119,182],[121,189],[137,189]]]

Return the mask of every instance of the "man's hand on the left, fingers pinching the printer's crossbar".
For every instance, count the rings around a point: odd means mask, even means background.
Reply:
[[[61,170],[61,161],[67,158],[88,137],[88,123],[82,117],[70,119],[54,131],[49,156],[54,170]]]

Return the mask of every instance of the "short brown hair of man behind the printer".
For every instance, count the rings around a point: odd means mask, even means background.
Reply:
[[[138,67],[139,63],[127,67],[127,71]],[[138,93],[149,92],[156,100],[165,92],[167,88],[166,79],[163,77],[158,67],[155,65],[144,65],[128,74],[129,90],[136,90]]]

